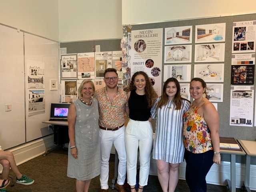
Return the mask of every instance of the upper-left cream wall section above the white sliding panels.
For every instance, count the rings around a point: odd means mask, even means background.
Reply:
[[[58,0],[1,0],[0,23],[58,40]]]

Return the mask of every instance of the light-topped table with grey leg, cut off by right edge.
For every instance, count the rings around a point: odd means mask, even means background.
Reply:
[[[250,192],[250,165],[251,157],[256,157],[256,141],[238,140],[244,151],[246,152],[246,167],[244,186]]]

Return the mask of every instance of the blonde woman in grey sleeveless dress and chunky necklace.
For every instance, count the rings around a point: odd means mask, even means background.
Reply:
[[[92,178],[100,174],[99,112],[94,92],[94,83],[84,80],[68,111],[67,176],[76,178],[77,192],[88,192]]]

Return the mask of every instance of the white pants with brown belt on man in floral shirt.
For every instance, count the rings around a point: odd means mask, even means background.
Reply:
[[[100,186],[102,189],[108,189],[108,161],[110,157],[111,148],[114,146],[118,153],[118,178],[119,185],[124,184],[126,176],[126,151],[124,144],[125,126],[119,130],[102,130],[100,129],[100,147],[101,147],[101,172],[100,172]]]

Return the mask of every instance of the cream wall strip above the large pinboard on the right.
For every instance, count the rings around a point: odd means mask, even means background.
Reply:
[[[256,13],[255,0],[122,0],[122,24]]]

